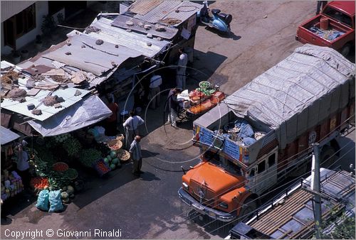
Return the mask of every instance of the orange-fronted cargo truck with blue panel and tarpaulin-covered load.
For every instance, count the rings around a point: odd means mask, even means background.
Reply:
[[[355,64],[332,48],[305,44],[194,121],[201,162],[182,176],[179,198],[222,222],[243,219],[263,192],[320,161],[355,126]],[[352,125],[353,123],[353,125]]]

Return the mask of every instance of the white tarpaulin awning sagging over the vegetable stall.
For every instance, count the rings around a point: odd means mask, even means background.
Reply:
[[[28,121],[42,136],[56,136],[106,119],[112,114],[98,96],[90,96],[45,121]]]

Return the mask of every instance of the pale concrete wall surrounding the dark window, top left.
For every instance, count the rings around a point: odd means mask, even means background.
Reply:
[[[22,48],[24,45],[31,43],[36,39],[36,36],[42,34],[41,25],[43,21],[43,15],[48,13],[48,1],[36,1],[36,28],[26,33],[25,35],[17,38],[16,48]],[[7,55],[13,50],[9,46],[4,45],[4,23],[1,23],[1,55]]]

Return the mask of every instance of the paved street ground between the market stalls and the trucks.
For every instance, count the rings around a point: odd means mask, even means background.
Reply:
[[[203,26],[197,31],[194,51],[194,69],[189,87],[196,80],[210,78],[221,84],[227,94],[242,87],[292,53],[301,44],[295,41],[295,31],[302,21],[313,16],[315,1],[216,1],[211,8],[231,13],[231,36],[219,36]],[[267,18],[263,18],[266,15]],[[199,73],[204,72],[204,75]],[[162,101],[163,102],[163,99]],[[34,207],[31,199],[20,200],[7,219],[1,219],[1,238],[4,231],[55,230],[53,238],[72,238],[56,235],[57,229],[67,231],[93,229],[121,229],[125,239],[211,239],[226,232],[213,231],[216,226],[187,221],[177,197],[181,185],[181,166],[197,163],[198,149],[189,142],[191,124],[181,129],[162,126],[160,109],[148,110],[146,116],[149,134],[142,140],[145,160],[141,178],[130,174],[130,165],[110,173],[108,178],[87,178],[85,190],[80,192],[63,213],[48,214]],[[355,161],[355,132],[343,143],[347,158]],[[342,153],[342,154],[343,154]],[[345,159],[347,163],[350,159]],[[21,202],[22,201],[22,202]],[[119,238],[119,237],[116,237]],[[41,239],[41,237],[40,237]]]

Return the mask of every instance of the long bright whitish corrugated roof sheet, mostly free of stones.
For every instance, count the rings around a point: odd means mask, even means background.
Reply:
[[[142,55],[149,58],[153,58],[159,52],[164,50],[170,43],[170,41],[167,40],[159,41],[155,38],[147,38],[142,33],[127,32],[122,28],[111,26],[111,24],[112,20],[108,18],[100,18],[98,21],[93,22],[91,26],[95,26],[101,31],[97,33],[92,32],[88,35],[113,44],[123,45],[127,48],[135,49]],[[148,46],[147,43],[151,43],[152,45]]]

